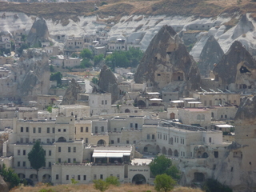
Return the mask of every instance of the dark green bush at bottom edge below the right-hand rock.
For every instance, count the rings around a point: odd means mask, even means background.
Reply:
[[[233,191],[232,189],[230,189],[229,186],[226,186],[213,178],[208,178],[206,182],[204,182],[202,186],[202,190],[206,192],[215,192],[215,191],[232,192]]]

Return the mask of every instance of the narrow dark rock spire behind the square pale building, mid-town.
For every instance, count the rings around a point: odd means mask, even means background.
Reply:
[[[114,103],[119,98],[119,88],[117,78],[108,66],[103,66],[99,74],[98,87],[111,94],[111,102]]]

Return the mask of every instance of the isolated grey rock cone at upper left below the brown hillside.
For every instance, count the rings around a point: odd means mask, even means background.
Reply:
[[[27,42],[30,46],[40,46],[41,42],[49,42],[49,31],[46,21],[43,18],[37,18],[27,35]]]

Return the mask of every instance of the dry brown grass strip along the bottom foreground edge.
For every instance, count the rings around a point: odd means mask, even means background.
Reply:
[[[59,185],[59,186],[46,186],[43,184],[39,184],[38,186],[18,186],[10,192],[38,192],[39,190],[46,189],[46,190],[52,190],[55,192],[98,192],[98,190],[94,190],[93,184],[90,185]],[[154,186],[148,186],[148,185],[130,185],[130,184],[123,184],[121,186],[110,186],[106,192],[146,192],[146,191],[156,192],[154,190]],[[173,190],[174,192],[202,192],[202,190],[199,189],[191,189],[188,187],[176,187]]]

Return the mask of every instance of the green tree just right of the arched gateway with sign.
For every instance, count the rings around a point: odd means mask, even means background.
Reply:
[[[172,165],[169,158],[165,155],[159,155],[152,162],[150,162],[150,171],[154,176],[158,174],[168,174],[174,179],[180,178],[180,171],[177,166]]]

